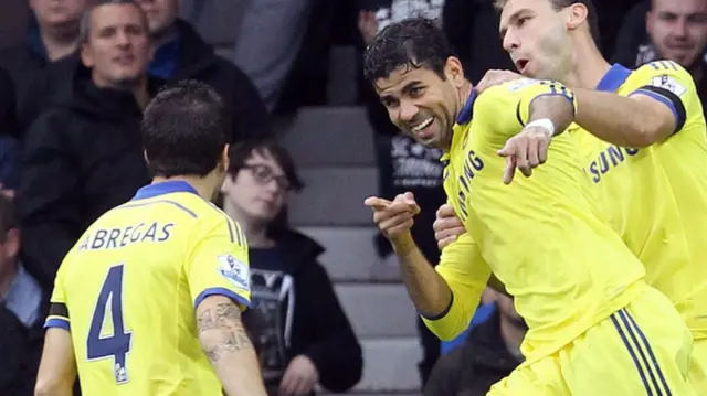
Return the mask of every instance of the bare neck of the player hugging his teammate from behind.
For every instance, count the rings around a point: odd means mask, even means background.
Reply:
[[[571,67],[557,79],[570,88],[594,89],[611,65],[601,55],[591,38],[582,36],[574,40],[572,53]]]

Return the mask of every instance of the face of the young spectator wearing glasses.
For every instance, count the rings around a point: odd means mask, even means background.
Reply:
[[[291,185],[270,152],[258,151],[253,151],[235,175],[226,176],[221,192],[225,207],[238,211],[236,217],[267,224],[282,211]]]

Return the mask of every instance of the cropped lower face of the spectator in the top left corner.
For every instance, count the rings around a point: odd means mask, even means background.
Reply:
[[[30,0],[42,29],[76,31],[82,13],[93,0]]]

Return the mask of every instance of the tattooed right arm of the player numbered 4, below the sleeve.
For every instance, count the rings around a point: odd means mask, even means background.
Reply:
[[[228,396],[266,396],[253,343],[233,302],[198,312],[199,340]]]

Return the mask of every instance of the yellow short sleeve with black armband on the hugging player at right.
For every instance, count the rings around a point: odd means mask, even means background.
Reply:
[[[675,131],[690,116],[701,116],[703,107],[693,76],[673,61],[656,61],[641,66],[631,76],[637,88],[629,96],[648,96],[667,106],[675,116]]]

